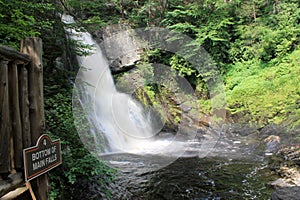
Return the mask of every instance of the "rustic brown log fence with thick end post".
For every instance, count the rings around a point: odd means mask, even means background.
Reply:
[[[24,184],[23,149],[45,130],[41,39],[20,51],[0,46],[0,197]]]

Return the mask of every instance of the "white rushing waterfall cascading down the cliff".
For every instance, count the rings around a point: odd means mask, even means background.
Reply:
[[[66,24],[74,23],[73,17],[63,15]],[[153,136],[151,119],[143,107],[128,94],[117,91],[108,62],[99,45],[88,32],[66,28],[71,40],[91,47],[88,55],[77,55],[80,70],[76,88],[84,88],[80,99],[90,124],[94,126],[93,137],[104,145],[104,152],[130,151],[140,148],[142,142],[151,141]],[[82,49],[85,50],[86,49]],[[99,132],[104,135],[99,137]]]

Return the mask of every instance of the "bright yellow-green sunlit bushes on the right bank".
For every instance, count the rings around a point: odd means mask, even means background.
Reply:
[[[247,113],[244,120],[252,123],[299,126],[299,55],[294,51],[268,67],[261,62],[231,66],[226,78],[230,112]]]

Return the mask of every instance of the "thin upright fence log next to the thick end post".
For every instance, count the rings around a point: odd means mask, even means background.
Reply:
[[[23,148],[31,146],[30,121],[29,121],[29,99],[28,99],[28,73],[25,65],[19,71],[20,112],[23,132]]]

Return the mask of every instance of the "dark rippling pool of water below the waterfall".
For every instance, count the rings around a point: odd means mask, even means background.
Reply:
[[[221,138],[205,157],[190,149],[170,165],[157,169],[166,155],[130,153],[105,156],[118,169],[113,199],[270,199],[269,183],[276,179],[253,136]]]

